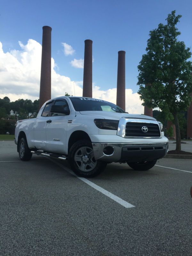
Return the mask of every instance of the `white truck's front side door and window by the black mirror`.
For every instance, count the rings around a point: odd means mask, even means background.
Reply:
[[[70,107],[66,99],[55,100],[53,105],[60,105],[64,110]],[[66,152],[66,136],[69,115],[50,113],[49,123],[46,123],[46,149],[52,152]]]

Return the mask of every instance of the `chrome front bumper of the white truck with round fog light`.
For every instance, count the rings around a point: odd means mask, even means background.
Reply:
[[[144,162],[166,156],[168,142],[159,143],[92,143],[96,160],[104,162]],[[104,154],[106,147],[113,148],[110,155]]]

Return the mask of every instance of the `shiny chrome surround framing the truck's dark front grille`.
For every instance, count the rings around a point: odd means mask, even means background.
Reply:
[[[132,123],[131,125],[134,125],[133,123],[138,123],[138,126],[140,126],[140,128],[142,128],[142,126],[152,126],[153,124],[155,124],[156,127],[158,127],[158,136],[148,136],[148,132],[143,133],[142,136],[142,132],[139,135],[128,135],[126,136],[126,126],[128,127],[127,124]],[[143,125],[144,124],[144,125]],[[119,120],[119,124],[118,124],[118,129],[117,129],[117,135],[124,137],[124,138],[161,138],[161,130],[160,130],[160,126],[158,121],[156,121],[155,119],[137,119],[137,118],[130,118],[130,117],[122,117]]]

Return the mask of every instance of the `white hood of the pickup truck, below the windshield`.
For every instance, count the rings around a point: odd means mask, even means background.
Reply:
[[[95,116],[96,118],[112,119],[112,120],[119,120],[121,117],[156,120],[151,116],[127,114],[127,113],[115,113],[115,112],[109,112],[109,111],[80,111],[79,113],[81,115],[89,115],[89,116]]]

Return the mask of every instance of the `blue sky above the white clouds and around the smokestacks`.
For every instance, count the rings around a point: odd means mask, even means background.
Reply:
[[[137,66],[145,53],[149,31],[176,10],[180,41],[192,45],[192,1],[1,1],[0,41],[3,51],[20,50],[28,39],[42,44],[42,27],[52,27],[52,58],[60,75],[83,80],[83,69],[70,61],[84,59],[84,40],[93,41],[93,82],[102,90],[116,87],[118,51],[126,52],[126,88],[138,91]],[[75,53],[65,56],[62,42]]]

